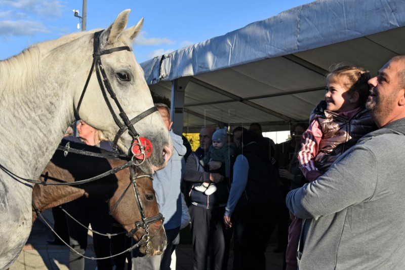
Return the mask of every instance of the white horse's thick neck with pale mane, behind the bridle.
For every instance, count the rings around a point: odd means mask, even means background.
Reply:
[[[74,91],[85,79],[72,78],[86,77],[83,69],[66,63],[72,48],[48,47],[0,62],[0,164],[27,178],[39,176],[74,120]]]

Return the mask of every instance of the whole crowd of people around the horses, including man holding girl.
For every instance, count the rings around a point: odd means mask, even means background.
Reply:
[[[284,269],[405,267],[405,56],[389,60],[374,78],[361,67],[336,64],[326,81],[325,100],[309,123],[291,123],[290,138],[278,144],[263,137],[259,123],[232,131],[207,126],[192,151],[184,136],[170,131],[169,107],[155,104],[175,149],[153,182],[168,245],[159,256],[135,251],[132,269],[173,269],[179,231],[188,224],[194,270],[225,270],[228,264],[233,270],[266,269],[264,254],[276,228],[273,252],[284,253]],[[110,147],[84,127],[80,122],[74,140]],[[83,204],[92,203],[82,200],[80,211],[77,202],[66,209],[97,226],[83,212]],[[102,202],[97,205],[93,213],[103,219],[98,229],[104,231],[113,220]],[[68,232],[70,244],[83,253],[84,229],[68,222]],[[83,269],[76,255],[70,263]],[[111,263],[98,269],[111,269]]]

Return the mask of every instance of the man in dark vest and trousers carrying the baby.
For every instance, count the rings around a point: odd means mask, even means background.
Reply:
[[[199,133],[200,147],[191,153],[186,162],[184,180],[190,183],[189,212],[191,216],[190,228],[194,251],[194,270],[207,270],[207,258],[210,257],[209,268],[211,270],[221,270],[223,267],[226,242],[224,238],[224,224],[222,217],[225,213],[225,206],[228,200],[227,183],[219,173],[207,172],[199,164],[199,160],[212,145],[212,135],[215,128],[204,127]],[[212,170],[214,166],[221,166],[221,162],[210,162]],[[199,186],[203,182],[214,182],[217,191],[211,195],[194,190],[194,186]],[[208,253],[210,252],[210,254]]]

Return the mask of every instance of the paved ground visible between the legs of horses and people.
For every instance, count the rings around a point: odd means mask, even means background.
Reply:
[[[45,217],[53,224],[52,212],[45,211]],[[188,229],[188,228],[185,228]],[[40,219],[36,220],[31,235],[17,261],[10,267],[10,270],[42,270],[42,269],[68,269],[69,249],[65,246],[49,245],[47,240],[53,239],[53,233]],[[181,240],[180,240],[181,241]],[[93,241],[89,235],[89,247],[86,256],[94,256]],[[282,254],[273,253],[275,243],[270,243],[266,252],[266,265],[269,270],[282,269]],[[176,248],[176,269],[190,270],[193,263],[193,250],[190,244],[180,243]],[[232,269],[232,251],[228,263],[228,269]],[[96,269],[96,261],[86,259],[85,269]],[[254,269],[252,269],[254,270]]]

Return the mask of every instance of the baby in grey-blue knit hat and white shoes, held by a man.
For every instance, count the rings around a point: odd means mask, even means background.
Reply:
[[[225,174],[225,177],[229,178],[230,174],[230,156],[233,155],[236,145],[233,142],[228,142],[228,135],[227,135],[228,127],[223,129],[218,129],[212,135],[212,145],[210,146],[209,151],[206,153],[206,156],[199,161],[202,166],[207,166],[210,161],[219,161],[223,163],[221,168],[225,167],[225,171],[221,173],[222,175]],[[223,166],[225,165],[225,166]],[[216,190],[217,187],[214,183],[204,182],[199,186],[194,187],[195,190],[204,192],[205,195],[211,195]]]

